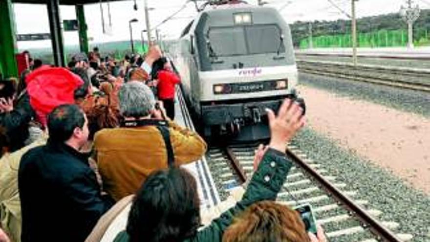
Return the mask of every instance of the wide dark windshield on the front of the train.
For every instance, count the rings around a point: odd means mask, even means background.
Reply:
[[[213,27],[207,39],[211,55],[236,56],[285,53],[282,32],[275,24]]]

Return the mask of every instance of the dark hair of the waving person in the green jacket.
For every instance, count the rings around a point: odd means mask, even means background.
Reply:
[[[182,168],[152,173],[137,192],[127,223],[130,242],[174,242],[194,236],[200,225],[194,177]]]

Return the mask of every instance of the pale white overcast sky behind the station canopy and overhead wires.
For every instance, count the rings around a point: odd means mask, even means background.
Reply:
[[[296,21],[312,21],[312,20],[337,20],[346,19],[346,15],[342,11],[334,7],[329,0],[265,0],[269,2],[269,6],[277,9],[283,8],[282,16],[286,22],[293,23]],[[359,0],[357,5],[357,16],[373,16],[379,14],[398,12],[401,5],[406,0]],[[107,0],[103,0],[103,11],[105,22],[108,24],[108,4]],[[133,0],[118,1],[110,3],[110,16],[112,22],[112,35],[103,34],[102,31],[102,15],[100,4],[89,4],[85,6],[86,22],[88,25],[88,37],[91,37],[92,42],[109,42],[119,40],[129,40],[129,20],[136,18],[139,20],[133,23],[133,36],[140,40],[141,31],[146,29],[144,21],[143,0],[136,0],[138,10],[133,9]],[[148,0],[148,5],[154,8],[150,11],[151,28],[172,13],[179,10],[186,0]],[[349,13],[351,11],[350,0],[332,0],[342,10]],[[256,4],[257,0],[248,0],[250,4]],[[415,0],[421,8],[430,8],[430,0]],[[45,5],[35,4],[14,4],[15,21],[17,24],[18,34],[28,33],[48,33],[49,23],[47,10]],[[76,19],[74,6],[60,7],[61,19]],[[196,10],[193,3],[188,3],[183,11],[178,13],[176,17],[166,22],[159,27],[161,35],[167,38],[177,38],[183,27],[191,21],[191,18],[196,15]],[[145,35],[146,37],[146,35]],[[78,44],[78,33],[65,32],[64,42],[66,45]],[[48,47],[50,41],[35,41],[35,42],[19,42],[19,48],[29,47]]]

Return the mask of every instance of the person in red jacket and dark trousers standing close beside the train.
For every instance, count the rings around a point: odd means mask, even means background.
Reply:
[[[157,84],[157,95],[158,100],[163,102],[163,106],[166,109],[167,116],[174,119],[174,93],[175,85],[180,83],[181,79],[173,71],[170,62],[162,57],[160,60],[163,64],[163,69],[157,72],[155,79],[158,79]]]

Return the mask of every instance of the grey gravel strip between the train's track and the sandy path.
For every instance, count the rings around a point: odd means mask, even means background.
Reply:
[[[303,129],[292,144],[346,183],[348,190],[357,191],[358,198],[368,200],[369,208],[382,211],[379,220],[398,222],[396,233],[412,234],[414,242],[430,241],[428,196],[309,128]]]

